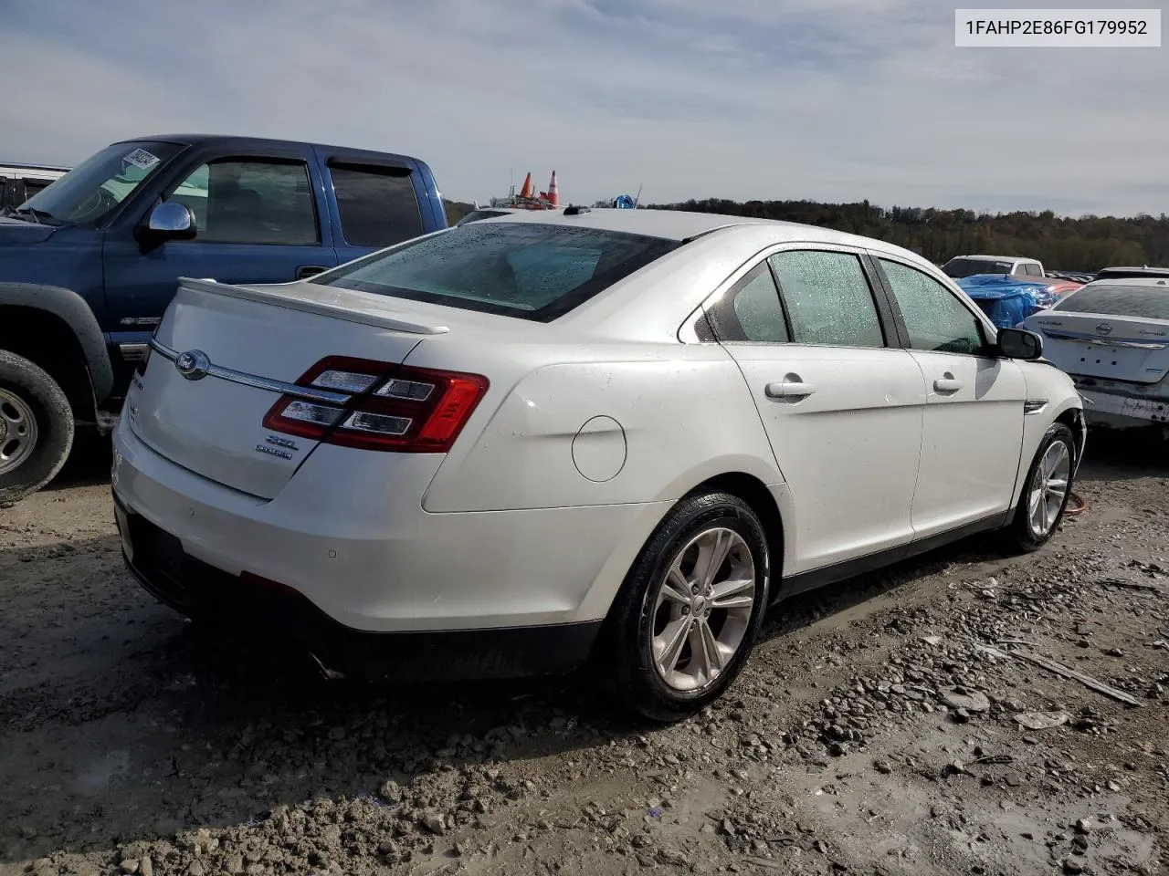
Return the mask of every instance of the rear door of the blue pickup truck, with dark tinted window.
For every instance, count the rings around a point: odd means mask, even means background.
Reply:
[[[318,151],[334,229],[338,263],[417,237],[423,232],[420,199],[426,197],[409,159],[373,159],[357,153]]]

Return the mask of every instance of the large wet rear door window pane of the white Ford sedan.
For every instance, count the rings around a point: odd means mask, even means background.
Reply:
[[[780,281],[793,342],[885,346],[872,290],[855,255],[793,250],[769,260]]]

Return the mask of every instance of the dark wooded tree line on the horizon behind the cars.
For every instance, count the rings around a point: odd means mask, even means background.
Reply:
[[[653,209],[722,213],[784,220],[876,237],[931,262],[987,253],[1038,258],[1045,267],[1098,271],[1108,265],[1169,265],[1169,216],[1057,216],[1043,213],[975,213],[933,207],[874,207],[818,201],[706,199]]]

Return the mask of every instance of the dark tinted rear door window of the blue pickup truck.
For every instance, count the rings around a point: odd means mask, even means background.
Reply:
[[[354,246],[389,246],[422,234],[414,181],[406,168],[328,162],[341,236]]]

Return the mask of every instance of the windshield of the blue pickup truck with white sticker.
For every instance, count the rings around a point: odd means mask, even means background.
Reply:
[[[34,213],[49,224],[97,227],[181,148],[173,142],[115,144],[54,180],[16,213]]]

